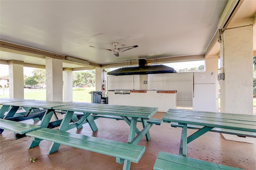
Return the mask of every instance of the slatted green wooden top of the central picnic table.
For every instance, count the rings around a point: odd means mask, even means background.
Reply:
[[[54,107],[53,109],[83,113],[95,113],[101,115],[136,117],[144,119],[150,119],[158,111],[158,108],[156,107],[136,107],[78,102],[74,102],[70,105]]]

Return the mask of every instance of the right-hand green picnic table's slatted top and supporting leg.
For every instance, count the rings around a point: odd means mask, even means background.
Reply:
[[[232,113],[214,113],[203,111],[189,111],[181,109],[169,109],[163,117],[163,122],[178,123],[182,125],[182,136],[180,151],[183,156],[187,155],[187,144],[202,136],[213,128],[222,128],[222,131],[238,130],[240,133],[248,132],[253,135],[256,132],[256,116]],[[198,131],[187,136],[187,129],[190,125],[199,125]],[[181,154],[181,153],[180,153]]]

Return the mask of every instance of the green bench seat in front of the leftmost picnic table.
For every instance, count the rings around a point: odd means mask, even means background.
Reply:
[[[15,121],[10,121],[10,120],[6,120],[6,119],[0,119],[0,134],[2,134],[3,130],[8,130],[11,132],[14,132],[15,139],[24,137],[27,132],[36,130],[41,128],[40,126],[37,125],[29,125],[26,123],[20,123],[20,122],[15,122]],[[19,135],[22,134],[22,135]]]

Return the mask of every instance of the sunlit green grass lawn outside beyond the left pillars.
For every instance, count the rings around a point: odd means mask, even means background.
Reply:
[[[91,103],[90,91],[95,91],[95,87],[73,88],[73,101]],[[0,98],[9,98],[8,91],[0,94]],[[24,89],[24,99],[46,100],[46,89]]]

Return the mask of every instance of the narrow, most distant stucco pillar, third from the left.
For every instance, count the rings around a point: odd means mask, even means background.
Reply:
[[[72,68],[63,69],[63,101],[73,101],[73,72]]]

